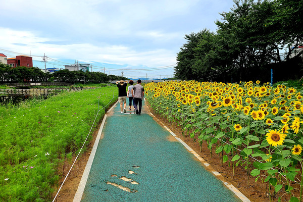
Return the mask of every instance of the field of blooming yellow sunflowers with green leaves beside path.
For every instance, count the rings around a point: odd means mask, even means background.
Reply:
[[[210,153],[215,148],[234,175],[242,166],[247,184],[251,175],[268,183],[270,193],[285,191],[290,201],[301,201],[303,91],[260,81],[168,81],[144,88],[153,110],[181,126],[184,137],[206,142]]]

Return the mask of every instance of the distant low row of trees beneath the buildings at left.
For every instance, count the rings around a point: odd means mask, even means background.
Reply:
[[[127,80],[125,77],[107,75],[102,72],[82,72],[59,70],[44,73],[36,67],[16,67],[0,63],[0,82],[68,82],[68,83],[105,83],[110,80]]]

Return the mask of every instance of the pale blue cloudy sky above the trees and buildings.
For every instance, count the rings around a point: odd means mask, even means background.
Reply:
[[[10,0],[0,7],[0,53],[33,66],[85,63],[125,77],[171,78],[185,34],[215,32],[232,0]],[[91,68],[90,68],[91,70]]]

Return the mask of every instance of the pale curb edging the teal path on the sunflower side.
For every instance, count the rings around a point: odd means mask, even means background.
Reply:
[[[227,182],[227,180],[217,171],[215,171],[215,169],[209,164],[207,163],[207,161],[205,161],[202,157],[200,157],[200,155],[198,155],[190,146],[188,146],[183,140],[181,140],[179,137],[177,137],[177,135],[171,131],[164,123],[162,123],[153,113],[149,112],[150,116],[155,118],[172,136],[174,136],[181,144],[183,144],[183,146],[190,151],[190,153],[192,153],[203,165],[204,167],[210,171],[211,173],[213,173],[213,175],[215,175],[219,180],[221,180],[225,186],[227,186],[236,196],[238,196],[238,198],[240,198],[240,200],[242,200],[243,202],[251,202],[241,191],[239,191],[234,185],[230,184],[229,182]]]

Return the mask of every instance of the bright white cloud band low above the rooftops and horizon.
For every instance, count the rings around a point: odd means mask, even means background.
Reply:
[[[153,51],[136,51],[126,45],[112,45],[103,43],[57,44],[58,40],[38,37],[32,32],[16,31],[3,28],[3,37],[0,43],[3,49],[14,50],[16,53],[31,53],[33,56],[43,56],[60,60],[75,59],[83,61],[96,61],[117,65],[159,67],[176,63],[175,53],[167,49],[154,49]],[[54,41],[54,42],[53,42]],[[18,55],[18,54],[17,54]],[[41,60],[36,58],[35,60]]]

